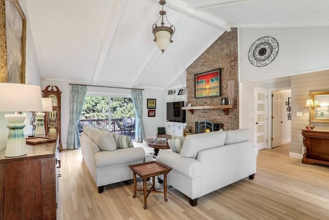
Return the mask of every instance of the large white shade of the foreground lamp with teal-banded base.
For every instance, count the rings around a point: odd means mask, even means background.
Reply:
[[[0,83],[0,112],[41,111],[41,87]]]

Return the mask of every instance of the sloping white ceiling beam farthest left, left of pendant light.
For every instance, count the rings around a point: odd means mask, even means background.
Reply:
[[[97,55],[94,73],[92,76],[92,85],[96,85],[99,81],[100,74],[103,70],[107,54],[111,49],[113,39],[117,32],[126,3],[127,0],[115,0],[112,4],[111,12],[109,13],[106,28],[105,28],[103,40]]]

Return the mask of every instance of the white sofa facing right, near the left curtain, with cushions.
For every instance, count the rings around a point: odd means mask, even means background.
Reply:
[[[131,146],[129,136],[115,134],[116,142],[113,135],[101,128],[85,124],[80,137],[83,160],[99,193],[104,191],[105,185],[132,179],[133,172],[128,165],[152,161],[152,155],[145,153],[142,147]],[[117,143],[121,147],[131,147],[117,149]]]

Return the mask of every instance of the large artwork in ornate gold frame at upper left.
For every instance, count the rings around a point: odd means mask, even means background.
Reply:
[[[25,84],[26,17],[17,0],[0,4],[0,83]]]

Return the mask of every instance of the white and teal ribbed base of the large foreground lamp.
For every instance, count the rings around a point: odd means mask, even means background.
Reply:
[[[23,128],[26,114],[5,114],[9,128],[5,157],[23,156],[27,154]]]

